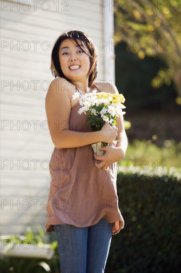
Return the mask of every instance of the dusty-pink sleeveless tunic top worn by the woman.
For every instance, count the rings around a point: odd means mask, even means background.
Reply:
[[[77,103],[71,108],[69,129],[91,132],[90,125],[87,125],[88,116],[78,114],[80,107]],[[94,162],[91,145],[54,148],[49,162],[51,182],[46,205],[46,232],[54,231],[53,225],[56,224],[88,227],[101,218],[110,223],[122,220],[118,207],[116,163],[108,170],[101,170]]]

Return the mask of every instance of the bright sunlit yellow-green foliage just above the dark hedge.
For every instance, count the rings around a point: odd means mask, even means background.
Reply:
[[[158,147],[150,140],[135,139],[128,145],[126,155],[118,163],[120,170],[131,170],[135,167],[145,173],[149,170],[169,170],[171,167],[181,167],[181,142],[165,140],[162,147]],[[128,168],[129,166],[129,168]]]

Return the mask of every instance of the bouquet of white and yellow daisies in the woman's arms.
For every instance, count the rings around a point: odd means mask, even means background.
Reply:
[[[125,114],[125,112],[122,112],[122,109],[126,108],[123,105],[125,98],[122,94],[96,93],[96,91],[93,91],[83,96],[80,96],[80,93],[75,93],[72,98],[79,98],[79,103],[82,107],[78,110],[78,113],[80,115],[85,113],[89,116],[88,124],[94,132],[101,130],[105,122],[108,122],[110,125],[116,125],[116,117],[119,117],[120,114]],[[98,142],[91,144],[92,148],[95,144],[96,150],[102,146],[109,145],[108,143]],[[95,148],[93,150],[95,152]]]

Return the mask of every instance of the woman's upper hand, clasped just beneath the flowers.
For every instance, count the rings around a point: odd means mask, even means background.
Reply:
[[[115,140],[116,136],[118,135],[118,129],[116,126],[110,125],[108,122],[105,122],[100,131],[103,137],[102,142],[114,144],[113,140]]]

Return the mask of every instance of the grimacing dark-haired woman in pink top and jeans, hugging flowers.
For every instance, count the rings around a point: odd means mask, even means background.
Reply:
[[[55,231],[61,273],[102,273],[111,236],[124,227],[116,193],[116,161],[123,158],[127,137],[123,117],[117,127],[105,123],[98,132],[72,96],[96,92],[118,93],[111,84],[95,82],[97,52],[89,35],[68,31],[55,41],[51,82],[45,100],[49,131],[55,145],[50,160],[51,183],[46,232]],[[91,143],[103,141],[105,154],[93,153]]]

